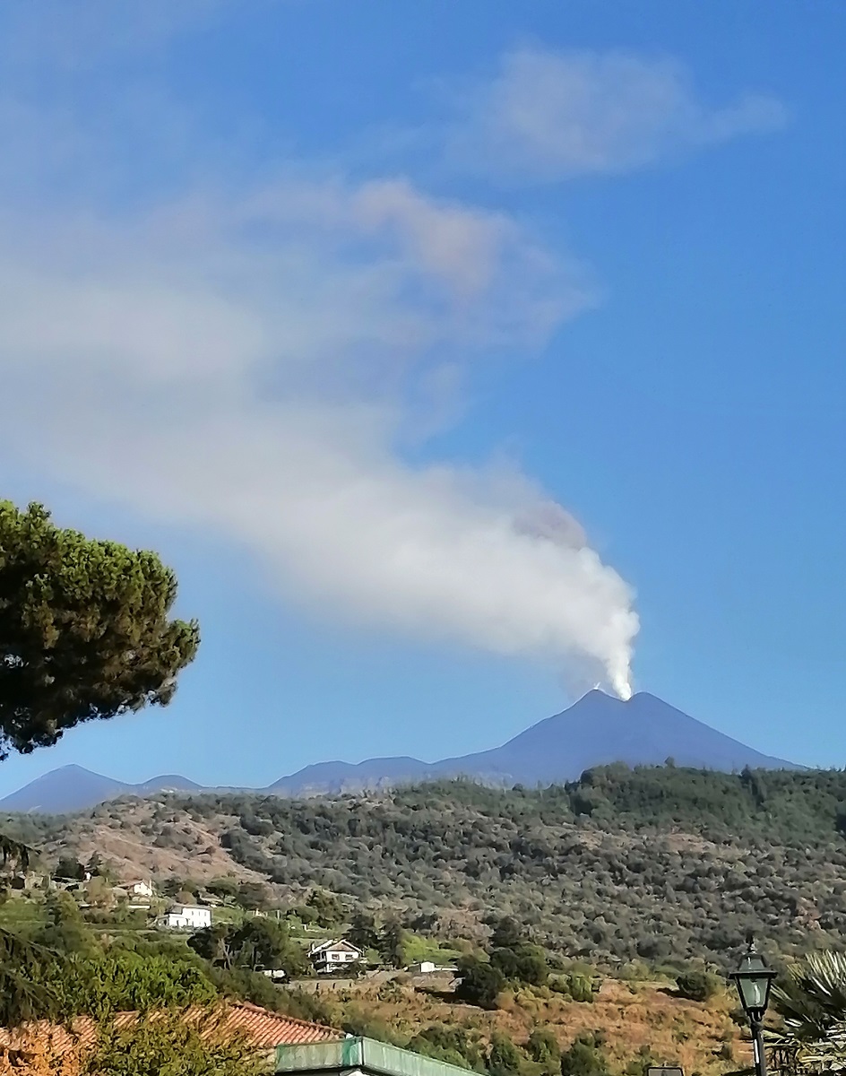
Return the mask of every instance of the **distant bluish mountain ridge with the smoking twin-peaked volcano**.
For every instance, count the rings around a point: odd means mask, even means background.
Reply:
[[[494,784],[550,784],[575,780],[592,766],[613,762],[661,765],[669,758],[679,766],[728,773],[744,766],[801,768],[762,754],[646,692],[622,702],[604,692],[591,691],[569,709],[539,721],[501,747],[440,762],[411,758],[322,762],[282,777],[267,788],[243,790],[204,789],[174,774],[129,784],[82,766],[62,766],[0,799],[0,807],[6,811],[60,815],[85,810],[118,796],[148,796],[166,791],[319,795],[457,776]]]

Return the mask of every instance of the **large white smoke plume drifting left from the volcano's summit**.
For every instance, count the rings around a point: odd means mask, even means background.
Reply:
[[[632,592],[576,521],[515,467],[408,462],[473,360],[590,301],[510,218],[404,180],[6,229],[0,451],[213,528],[333,620],[627,698]]]

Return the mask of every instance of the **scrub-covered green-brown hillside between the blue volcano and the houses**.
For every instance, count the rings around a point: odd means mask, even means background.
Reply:
[[[550,949],[614,966],[723,962],[749,931],[784,952],[840,945],[845,805],[843,771],[612,766],[545,790],[169,796],[26,827],[47,855],[119,832],[188,876],[204,869],[198,840],[213,839],[215,872],[261,875],[282,898],[320,886],[443,936],[512,914]]]

